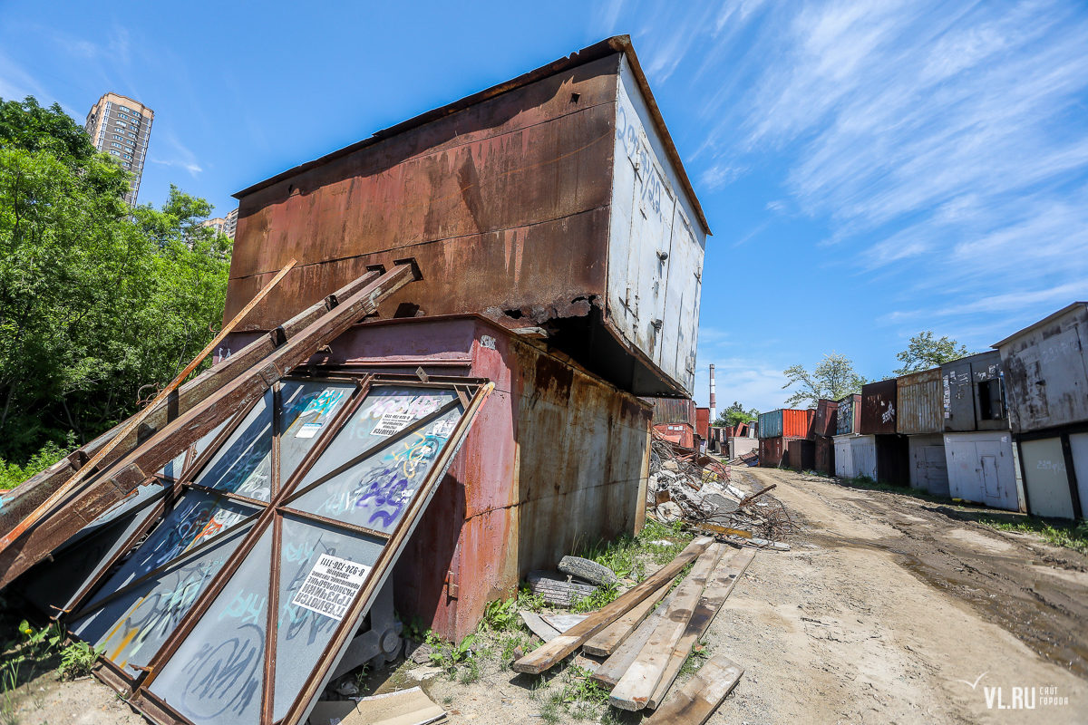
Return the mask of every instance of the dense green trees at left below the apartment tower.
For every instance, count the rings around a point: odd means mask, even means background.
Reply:
[[[90,438],[136,411],[222,318],[231,242],[171,187],[128,174],[58,105],[0,100],[0,458]]]

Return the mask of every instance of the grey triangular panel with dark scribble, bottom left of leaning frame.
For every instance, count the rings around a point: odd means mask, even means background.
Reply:
[[[260,722],[272,529],[267,529],[150,690],[196,725]]]

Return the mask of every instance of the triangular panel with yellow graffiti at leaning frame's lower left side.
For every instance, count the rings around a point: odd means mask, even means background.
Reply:
[[[104,646],[104,657],[139,674],[193,607],[231,553],[242,543],[251,525],[238,526],[201,551],[182,557],[147,582],[76,620],[70,629],[95,647]],[[96,599],[116,591],[129,578],[115,575]]]

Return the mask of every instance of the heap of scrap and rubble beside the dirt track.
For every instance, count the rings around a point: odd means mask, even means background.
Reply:
[[[657,521],[683,521],[692,528],[787,550],[795,530],[789,511],[763,490],[746,493],[729,480],[729,466],[681,448],[656,434],[650,455],[646,510]]]

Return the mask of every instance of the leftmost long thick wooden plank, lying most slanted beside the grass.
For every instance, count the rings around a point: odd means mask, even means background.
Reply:
[[[602,608],[598,612],[589,616],[581,624],[571,627],[552,641],[514,663],[515,672],[524,672],[531,675],[539,675],[556,662],[573,652],[590,637],[597,634],[609,624],[623,616],[635,604],[644,600],[663,584],[672,579],[680,573],[688,562],[692,561],[714,543],[714,539],[704,536],[689,543],[676,559],[646,577],[644,582],[635,586],[625,595],[620,595],[610,604]]]

